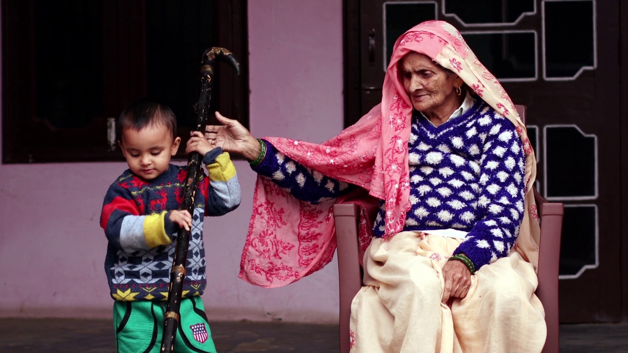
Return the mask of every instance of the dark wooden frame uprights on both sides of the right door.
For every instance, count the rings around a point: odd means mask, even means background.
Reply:
[[[619,67],[620,67],[620,158],[628,161],[628,4],[617,1],[619,7]],[[360,0],[343,0],[343,54],[344,54],[344,126],[354,124],[360,118]],[[628,214],[628,163],[621,163],[620,169],[620,214]],[[628,217],[620,220],[621,257],[619,264],[622,273],[621,315],[628,321]]]

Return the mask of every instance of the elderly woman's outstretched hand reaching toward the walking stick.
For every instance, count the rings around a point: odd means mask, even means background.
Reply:
[[[216,112],[216,119],[222,125],[208,125],[205,128],[205,138],[210,144],[241,155],[249,161],[256,160],[261,151],[259,141],[239,121],[224,117],[219,112]]]

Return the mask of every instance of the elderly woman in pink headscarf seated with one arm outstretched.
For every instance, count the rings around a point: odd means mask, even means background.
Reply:
[[[317,271],[335,248],[332,205],[377,200],[352,352],[541,351],[534,154],[453,26],[404,33],[381,104],[326,143],[255,139],[217,118],[207,138],[258,173],[241,278],[274,287]]]

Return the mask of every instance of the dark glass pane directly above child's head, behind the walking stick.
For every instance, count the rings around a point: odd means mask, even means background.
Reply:
[[[215,1],[146,1],[146,91],[175,112],[181,127],[194,122],[201,56],[218,45],[214,9]],[[220,75],[214,78],[212,107]]]

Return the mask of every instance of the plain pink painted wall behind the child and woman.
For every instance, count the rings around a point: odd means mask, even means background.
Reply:
[[[342,2],[249,2],[251,131],[322,142],[342,128]],[[124,163],[0,165],[0,317],[110,317],[102,197]],[[237,278],[255,175],[236,161],[242,204],[207,218],[213,320],[337,322],[335,261],[293,285]]]

